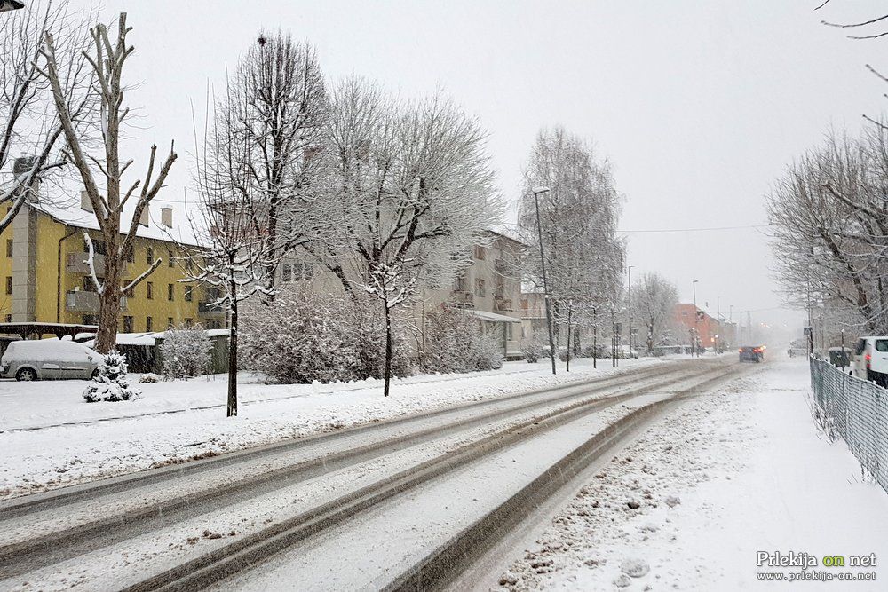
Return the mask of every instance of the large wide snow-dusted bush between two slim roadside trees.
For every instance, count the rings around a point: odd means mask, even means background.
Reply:
[[[274,383],[330,383],[379,378],[385,367],[385,321],[350,296],[281,291],[250,303],[242,316],[245,367]],[[409,359],[395,328],[392,375],[407,375]]]

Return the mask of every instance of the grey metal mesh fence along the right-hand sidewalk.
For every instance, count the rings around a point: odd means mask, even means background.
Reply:
[[[860,461],[864,478],[888,491],[888,390],[811,358],[815,419],[830,438],[842,438]]]

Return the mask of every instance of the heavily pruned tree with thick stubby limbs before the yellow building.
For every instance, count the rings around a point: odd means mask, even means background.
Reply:
[[[157,146],[151,146],[145,178],[137,179],[129,185],[129,188],[123,185],[123,175],[133,163],[132,160],[122,162],[119,154],[122,128],[130,115],[130,108],[125,107],[123,102],[125,91],[123,70],[127,59],[135,51],[135,48],[127,43],[130,31],[131,28],[126,25],[126,13],[121,13],[117,20],[115,39],[112,40],[108,35],[105,25],[99,24],[90,29],[92,51],[83,52],[91,66],[91,82],[99,94],[100,154],[90,153],[89,143],[75,127],[75,114],[69,108],[63,86],[63,75],[59,67],[59,48],[52,33],[48,32],[44,36],[44,45],[40,49],[44,59],[40,72],[52,88],[70,160],[74,162],[83,180],[84,190],[90,199],[99,223],[102,241],[105,243],[104,281],[99,282],[94,268],[92,273],[92,279],[99,292],[99,331],[96,336],[96,349],[101,352],[110,351],[115,346],[117,321],[121,310],[120,298],[123,292],[138,285],[161,263],[161,260],[157,259],[135,280],[126,286],[121,285],[123,264],[133,248],[142,212],[160,192],[170,167],[177,158],[176,152],[170,145],[170,153],[160,163],[155,177]],[[133,198],[135,203],[131,219],[128,223],[124,223],[125,227],[122,228],[123,208]],[[89,235],[86,235],[85,239],[91,243]],[[93,258],[93,249],[90,247],[90,262]]]

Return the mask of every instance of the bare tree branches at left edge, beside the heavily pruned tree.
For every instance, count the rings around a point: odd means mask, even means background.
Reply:
[[[0,218],[0,232],[12,223],[22,204],[36,200],[39,181],[66,163],[59,142],[62,127],[55,113],[52,90],[37,67],[47,33],[58,40],[59,87],[79,128],[93,99],[82,50],[85,30],[68,14],[67,2],[34,2],[25,10],[0,19],[0,170],[18,152],[23,157],[12,170],[12,182],[0,190],[0,203],[10,203]],[[44,195],[43,199],[50,199]]]

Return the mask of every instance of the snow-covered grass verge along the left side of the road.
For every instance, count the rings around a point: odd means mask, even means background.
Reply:
[[[139,384],[141,398],[83,402],[86,381],[0,381],[0,498],[338,430],[425,409],[488,399],[613,370],[605,360],[572,360],[571,372],[547,364],[509,362],[467,375],[417,375],[382,381],[266,385],[241,375],[240,414],[225,417],[226,382],[218,376]],[[621,360],[620,369],[668,364]],[[139,375],[130,375],[138,383]]]

